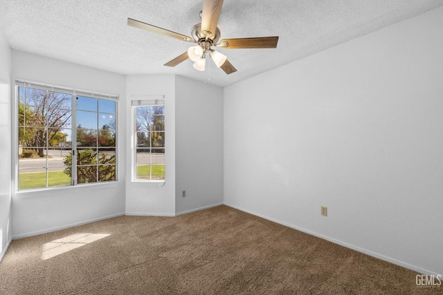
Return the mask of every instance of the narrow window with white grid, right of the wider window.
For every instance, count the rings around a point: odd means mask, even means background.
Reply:
[[[164,99],[133,101],[135,180],[165,180]]]

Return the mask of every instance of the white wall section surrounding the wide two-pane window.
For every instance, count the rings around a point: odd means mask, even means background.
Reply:
[[[125,157],[125,76],[66,61],[12,50],[12,79],[21,78],[82,90],[120,95],[118,104],[118,157]],[[12,89],[15,97],[15,89]],[[13,113],[16,113],[17,106]],[[16,118],[15,118],[16,120]],[[14,122],[16,125],[16,122]],[[12,151],[12,159],[17,151]],[[122,161],[123,162],[123,161]],[[13,177],[15,179],[16,177]],[[12,191],[14,238],[123,215],[125,166],[118,168],[118,182],[65,187],[44,191]]]

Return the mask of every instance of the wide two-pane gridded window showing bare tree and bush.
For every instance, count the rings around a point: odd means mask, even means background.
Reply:
[[[19,190],[117,179],[116,100],[18,85]]]

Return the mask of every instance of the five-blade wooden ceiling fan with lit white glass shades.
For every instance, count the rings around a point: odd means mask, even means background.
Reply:
[[[177,66],[182,61],[190,58],[194,61],[194,68],[197,70],[205,70],[206,55],[210,55],[218,68],[224,70],[226,74],[234,73],[236,68],[228,59],[226,55],[213,50],[213,46],[236,49],[236,48],[276,48],[278,36],[275,37],[253,37],[253,38],[238,38],[238,39],[222,39],[220,38],[220,30],[217,28],[217,22],[221,12],[223,0],[203,0],[203,8],[200,12],[201,23],[197,23],[191,30],[191,37],[181,35],[177,32],[172,32],[163,28],[152,26],[142,21],[135,19],[127,19],[127,24],[135,28],[141,28],[150,32],[165,35],[182,41],[191,42],[197,45],[190,46],[186,53],[168,61],[165,66]]]

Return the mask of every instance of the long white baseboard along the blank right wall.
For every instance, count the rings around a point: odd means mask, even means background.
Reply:
[[[229,203],[226,203],[226,202],[224,202],[224,204],[226,206],[228,206],[228,207],[232,207],[234,209],[237,209],[237,210],[240,210],[240,211],[244,211],[246,213],[250,213],[252,215],[264,218],[266,220],[270,220],[270,221],[278,223],[280,225],[284,225],[285,227],[291,227],[292,229],[296,229],[298,231],[302,231],[302,232],[304,232],[306,234],[310,234],[311,236],[316,236],[318,238],[322,238],[323,240],[328,240],[329,242],[334,242],[334,244],[341,245],[343,247],[347,247],[347,248],[355,250],[355,251],[359,251],[359,252],[361,252],[363,254],[368,254],[369,256],[372,256],[372,257],[375,257],[375,258],[379,258],[381,260],[385,260],[388,263],[392,263],[392,264],[399,265],[401,267],[413,270],[414,272],[418,272],[419,274],[428,274],[428,275],[434,275],[434,276],[438,275],[437,273],[428,271],[427,269],[422,269],[421,267],[416,267],[414,265],[410,265],[408,263],[404,263],[402,261],[390,258],[388,256],[384,256],[384,255],[372,252],[372,251],[370,251],[368,249],[363,249],[361,247],[357,247],[357,246],[348,244],[347,242],[342,242],[341,240],[336,240],[335,238],[330,238],[329,236],[323,236],[322,234],[318,234],[318,233],[316,233],[314,231],[309,231],[308,229],[304,229],[302,227],[297,227],[296,225],[291,225],[291,224],[289,224],[287,222],[284,222],[284,221],[281,221],[281,220],[278,220],[278,219],[275,219],[275,218],[271,218],[271,217],[268,217],[268,216],[264,216],[264,215],[262,215],[260,213],[256,213],[254,211],[247,210],[247,209],[244,209],[242,207],[235,206],[233,204],[229,204]]]

